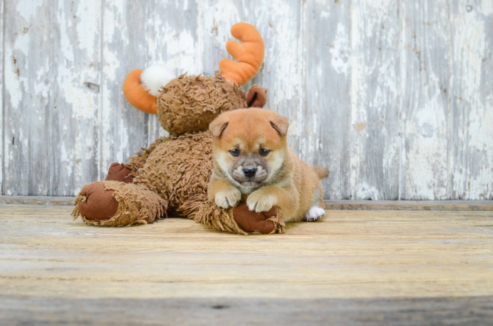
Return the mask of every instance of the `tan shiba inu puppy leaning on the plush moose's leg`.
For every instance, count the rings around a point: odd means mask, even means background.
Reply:
[[[298,159],[286,140],[289,121],[260,108],[228,111],[209,130],[214,137],[209,200],[222,208],[249,194],[250,210],[282,209],[286,222],[316,221],[325,214],[320,179],[328,172]]]

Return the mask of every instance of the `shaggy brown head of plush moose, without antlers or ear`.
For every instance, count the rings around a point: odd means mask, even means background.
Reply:
[[[183,74],[173,79],[161,89],[156,106],[162,127],[170,134],[182,135],[207,130],[218,114],[247,107],[247,102],[238,85],[216,72],[215,77]]]

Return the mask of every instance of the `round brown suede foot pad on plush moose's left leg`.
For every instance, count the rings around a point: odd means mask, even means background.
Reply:
[[[81,214],[88,220],[109,220],[118,210],[118,201],[113,197],[113,190],[105,190],[101,182],[93,182],[80,190],[86,199],[78,203]]]

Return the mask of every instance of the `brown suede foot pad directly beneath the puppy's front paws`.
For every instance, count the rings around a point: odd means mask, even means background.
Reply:
[[[266,221],[272,216],[276,216],[277,207],[272,207],[269,211],[256,213],[248,209],[246,202],[240,202],[233,209],[234,220],[238,226],[246,232],[271,233],[276,227],[274,222]]]

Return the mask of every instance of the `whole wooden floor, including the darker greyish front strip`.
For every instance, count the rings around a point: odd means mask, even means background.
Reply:
[[[282,235],[0,204],[0,325],[493,323],[493,212],[327,210]]]

